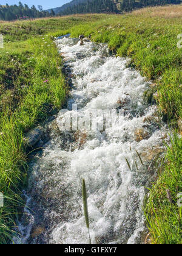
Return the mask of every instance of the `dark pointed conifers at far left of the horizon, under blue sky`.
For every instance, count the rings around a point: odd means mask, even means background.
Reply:
[[[19,5],[0,5],[0,20],[12,21],[12,20],[27,20],[29,18],[41,18],[46,16],[54,16],[53,10],[51,12],[44,11],[42,5],[38,5],[36,9],[35,5],[31,8],[27,4],[23,5],[19,2]]]

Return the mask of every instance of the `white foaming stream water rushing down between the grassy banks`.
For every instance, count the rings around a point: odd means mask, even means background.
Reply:
[[[128,68],[129,60],[92,42],[56,40],[72,79],[67,102],[49,123],[50,140],[30,162],[25,215],[15,243],[89,243],[83,216],[81,182],[86,180],[92,243],[142,243],[143,199],[155,177],[154,159],[163,152],[167,129],[157,107],[143,101],[150,82]],[[75,105],[78,111],[76,112]],[[117,110],[112,126],[100,115]],[[86,117],[79,131],[62,130],[72,113]],[[115,112],[114,112],[115,113]],[[140,157],[138,157],[138,154]]]

